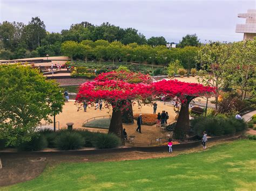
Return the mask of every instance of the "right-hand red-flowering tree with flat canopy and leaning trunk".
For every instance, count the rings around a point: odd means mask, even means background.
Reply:
[[[161,80],[154,82],[154,95],[165,95],[167,97],[177,96],[181,101],[179,117],[174,129],[174,137],[184,139],[190,131],[188,106],[190,102],[200,96],[210,96],[215,89],[210,86],[203,86],[200,83],[186,83],[177,80]]]

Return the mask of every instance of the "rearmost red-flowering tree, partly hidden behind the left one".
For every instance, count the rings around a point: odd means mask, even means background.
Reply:
[[[95,80],[98,81],[106,81],[106,80],[122,80],[128,83],[152,83],[152,78],[150,75],[145,75],[142,73],[135,73],[135,72],[127,72],[125,70],[120,71],[112,71],[107,73],[99,74]],[[122,122],[126,124],[133,123],[133,112],[132,112],[132,101],[127,100],[130,102],[129,108],[125,109],[122,112]]]

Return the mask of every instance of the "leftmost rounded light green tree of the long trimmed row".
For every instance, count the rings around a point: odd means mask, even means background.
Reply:
[[[74,41],[65,41],[62,43],[61,51],[65,56],[69,56],[71,58],[71,62],[73,62],[73,56],[75,56],[79,51],[78,43]]]

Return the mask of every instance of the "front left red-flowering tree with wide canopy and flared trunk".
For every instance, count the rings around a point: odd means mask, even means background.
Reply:
[[[105,100],[106,107],[113,108],[109,133],[123,140],[122,112],[129,109],[129,100],[144,100],[152,95],[152,86],[144,83],[127,83],[118,80],[92,81],[83,83],[76,97],[77,102],[86,101],[94,105]]]

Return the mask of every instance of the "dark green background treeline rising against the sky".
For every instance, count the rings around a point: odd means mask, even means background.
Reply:
[[[95,26],[88,22],[82,22],[72,24],[69,30],[50,33],[45,30],[44,22],[35,17],[27,25],[7,21],[0,23],[0,59],[32,58],[46,54],[50,56],[62,55],[62,43],[70,40],[77,43],[83,40],[92,40],[93,42],[106,40],[109,43],[120,41],[123,45],[137,43],[152,47],[166,45],[164,37],[146,39],[136,29],[122,29],[109,23]],[[195,34],[184,37],[178,46],[185,47],[187,45],[199,45],[199,40]]]

